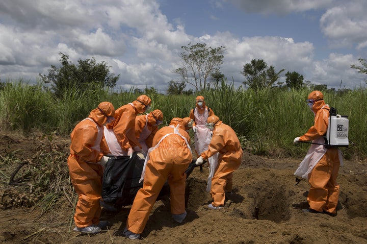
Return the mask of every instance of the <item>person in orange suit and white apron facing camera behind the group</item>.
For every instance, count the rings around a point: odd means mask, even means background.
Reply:
[[[202,102],[202,106],[198,105],[198,102]],[[206,120],[209,116],[213,116],[212,109],[205,106],[205,100],[203,96],[196,97],[196,107],[191,109],[189,117],[194,120],[193,127],[196,128],[194,134],[195,153],[199,156],[202,152],[207,150],[207,147],[211,141],[210,132],[205,128]]]

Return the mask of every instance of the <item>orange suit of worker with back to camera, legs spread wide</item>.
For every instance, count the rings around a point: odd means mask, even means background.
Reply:
[[[173,118],[169,126],[155,134],[153,148],[149,149],[146,159],[143,188],[139,189],[127,217],[127,230],[136,234],[143,232],[167,179],[171,192],[171,213],[185,212],[185,170],[191,162],[192,153],[190,136],[184,128],[181,118]]]

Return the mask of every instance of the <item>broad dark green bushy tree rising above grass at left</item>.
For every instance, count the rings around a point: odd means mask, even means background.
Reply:
[[[110,66],[106,62],[96,63],[94,58],[78,60],[75,65],[69,61],[69,56],[59,53],[61,67],[51,65],[48,75],[39,74],[41,81],[51,83],[56,96],[62,96],[63,92],[72,87],[86,89],[89,87],[115,87],[120,75],[110,74]]]

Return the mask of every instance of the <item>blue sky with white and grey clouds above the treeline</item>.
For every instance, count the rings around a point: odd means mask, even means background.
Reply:
[[[221,72],[240,86],[243,65],[263,59],[329,88],[364,86],[351,69],[367,58],[367,1],[352,0],[3,0],[0,79],[35,83],[59,53],[94,57],[120,74],[117,88],[165,92],[180,46],[225,46]],[[342,85],[340,86],[340,81]],[[187,89],[194,87],[188,85]]]

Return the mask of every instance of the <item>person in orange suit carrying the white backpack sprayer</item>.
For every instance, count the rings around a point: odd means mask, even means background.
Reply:
[[[314,124],[306,134],[296,137],[294,143],[312,141],[306,157],[300,163],[295,175],[308,180],[311,185],[307,202],[309,209],[303,212],[325,212],[336,215],[336,206],[339,199],[339,185],[336,177],[339,166],[343,164],[342,153],[337,147],[325,146],[324,135],[329,125],[330,108],[324,101],[321,91],[312,91],[308,94],[307,105],[314,114]]]

